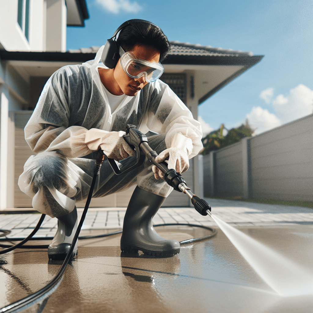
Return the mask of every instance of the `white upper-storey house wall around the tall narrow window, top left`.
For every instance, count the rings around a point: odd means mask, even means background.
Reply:
[[[7,51],[66,51],[65,0],[29,0],[29,41],[18,25],[18,0],[0,1],[0,43]]]

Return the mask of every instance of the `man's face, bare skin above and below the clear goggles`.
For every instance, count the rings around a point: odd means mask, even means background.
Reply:
[[[130,52],[135,54],[137,58],[144,59],[151,63],[158,63],[160,59],[160,52],[149,46],[136,45]],[[128,76],[122,68],[120,59],[114,69],[114,78],[124,94],[128,96],[136,95],[139,90],[148,84],[144,76],[140,78]]]

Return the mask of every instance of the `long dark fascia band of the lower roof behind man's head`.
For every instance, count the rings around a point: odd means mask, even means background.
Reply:
[[[69,52],[21,52],[0,50],[2,60],[18,61],[54,61],[54,62],[86,62],[95,59],[95,53]],[[254,56],[207,56],[207,55],[174,55],[170,54],[162,64],[190,65],[244,65],[253,66],[263,58]]]

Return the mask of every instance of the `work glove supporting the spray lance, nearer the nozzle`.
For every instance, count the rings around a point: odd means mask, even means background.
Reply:
[[[156,156],[156,162],[161,163],[168,160],[168,169],[173,168],[178,173],[186,172],[189,168],[189,160],[187,152],[181,148],[168,148]],[[152,171],[156,179],[164,178],[164,174],[155,165],[152,166]]]

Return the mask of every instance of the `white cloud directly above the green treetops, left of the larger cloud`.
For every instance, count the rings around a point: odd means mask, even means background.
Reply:
[[[246,118],[251,128],[255,129],[253,135],[258,135],[281,125],[275,114],[269,113],[267,109],[262,109],[260,106],[254,106],[251,112],[246,115]]]

